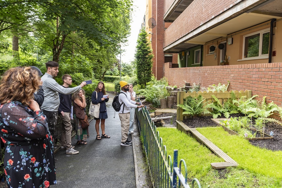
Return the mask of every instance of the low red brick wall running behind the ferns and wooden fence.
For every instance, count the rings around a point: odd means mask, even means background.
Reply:
[[[164,77],[172,86],[183,87],[186,81],[208,87],[230,81],[228,90],[252,90],[252,94],[259,95],[259,99],[267,96],[267,102],[274,101],[282,106],[282,63],[185,68],[169,66],[170,63],[164,64]]]

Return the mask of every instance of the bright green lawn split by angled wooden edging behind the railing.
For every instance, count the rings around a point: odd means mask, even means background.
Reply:
[[[252,146],[247,140],[229,135],[222,127],[198,128],[221,150],[238,163],[238,167],[216,170],[212,162],[223,160],[194,138],[172,128],[158,128],[168,155],[178,150],[178,164],[184,159],[190,182],[197,178],[202,188],[277,188],[282,187],[282,152]],[[182,167],[182,169],[184,169]],[[182,171],[182,173],[184,173]],[[189,182],[189,180],[188,180]],[[191,184],[191,183],[189,183]]]

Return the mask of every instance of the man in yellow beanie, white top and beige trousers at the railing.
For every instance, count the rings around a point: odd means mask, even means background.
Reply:
[[[120,110],[118,112],[120,123],[121,123],[121,144],[123,146],[132,145],[132,140],[128,140],[128,130],[129,130],[129,122],[130,122],[130,108],[142,108],[144,105],[140,105],[140,103],[131,100],[128,83],[125,81],[120,81],[119,85],[121,87],[120,94],[118,95],[118,102],[121,105]],[[138,106],[138,105],[139,106]]]

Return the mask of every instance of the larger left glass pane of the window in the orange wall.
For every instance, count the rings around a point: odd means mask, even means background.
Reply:
[[[244,57],[259,56],[259,33],[245,38]]]

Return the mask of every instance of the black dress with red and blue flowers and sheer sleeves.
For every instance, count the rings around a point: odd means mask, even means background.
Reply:
[[[6,144],[4,171],[10,187],[56,184],[54,148],[46,117],[20,102],[0,106],[0,136]]]

